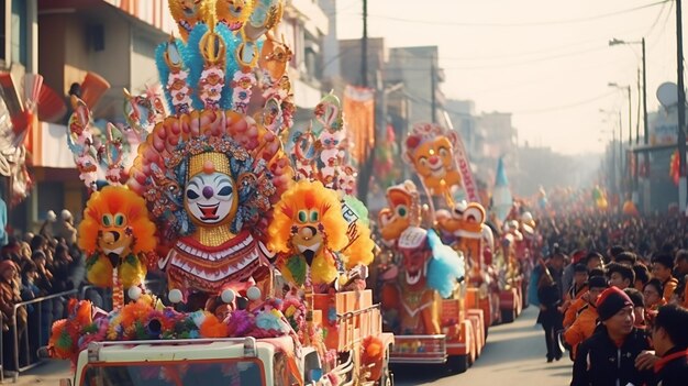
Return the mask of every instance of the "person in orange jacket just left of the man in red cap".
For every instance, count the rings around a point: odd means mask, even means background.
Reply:
[[[588,280],[588,295],[585,297],[586,305],[579,311],[576,320],[570,328],[564,332],[564,339],[566,343],[572,346],[572,353],[576,357],[576,348],[586,339],[592,337],[595,328],[597,327],[597,299],[600,294],[607,289],[607,279],[601,276],[592,276]],[[584,298],[581,298],[584,299]]]

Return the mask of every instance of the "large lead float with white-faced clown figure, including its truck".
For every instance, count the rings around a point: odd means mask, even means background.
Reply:
[[[271,33],[282,1],[169,3],[181,38],[156,52],[169,112],[126,92],[127,126],[95,133],[73,100],[69,146],[91,190],[79,245],[113,309],[71,300],[46,352],[79,386],[391,385],[336,98],[292,159],[281,142],[295,109]],[[166,296],[145,287],[156,267]]]

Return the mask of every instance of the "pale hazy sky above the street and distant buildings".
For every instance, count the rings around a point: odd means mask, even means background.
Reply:
[[[608,82],[632,86],[635,136],[641,45],[610,47],[612,37],[645,36],[648,111],[657,87],[676,81],[674,1],[368,0],[368,35],[388,48],[439,45],[444,93],[478,113],[512,112],[521,144],[601,152],[620,109],[628,141],[626,91]],[[362,0],[337,0],[337,14],[340,38],[362,36]]]

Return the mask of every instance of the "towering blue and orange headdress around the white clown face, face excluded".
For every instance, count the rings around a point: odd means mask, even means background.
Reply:
[[[257,40],[277,23],[282,5],[176,0],[169,7],[182,38],[162,44],[156,60],[175,117],[156,125],[141,145],[130,186],[158,220],[185,235],[195,229],[184,205],[185,185],[210,169],[228,175],[237,197],[230,231],[238,233],[269,214],[292,176],[277,136],[291,123],[282,113],[292,110],[290,86],[282,79],[284,67],[275,69],[290,53],[268,35],[279,55],[264,51],[266,68],[256,67],[263,44]],[[255,88],[264,91],[263,104],[254,103]]]

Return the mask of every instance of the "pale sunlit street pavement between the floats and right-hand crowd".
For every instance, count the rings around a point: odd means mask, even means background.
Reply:
[[[573,363],[565,356],[559,362],[545,360],[544,332],[535,326],[537,309],[523,311],[511,324],[490,329],[482,355],[466,373],[442,376],[443,368],[406,366],[396,370],[397,385],[568,385]]]

